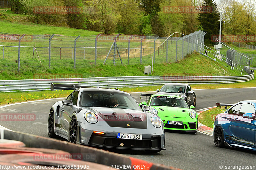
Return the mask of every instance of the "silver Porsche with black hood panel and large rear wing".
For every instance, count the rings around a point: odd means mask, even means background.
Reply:
[[[51,90],[72,90],[52,105],[49,137],[94,147],[160,152],[165,150],[162,120],[148,113],[127,92],[118,89],[51,84]]]

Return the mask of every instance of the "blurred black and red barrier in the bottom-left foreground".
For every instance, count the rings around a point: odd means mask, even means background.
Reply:
[[[8,164],[9,166],[20,165],[23,162],[24,164],[26,163],[26,165],[54,165],[55,168],[57,165],[59,165],[70,167],[70,169],[78,169],[74,167],[75,165],[81,166],[82,168],[80,169],[88,169],[88,165],[89,169],[92,170],[105,170],[114,169],[113,167],[118,165],[117,169],[122,170],[131,170],[132,168],[137,170],[178,170],[174,167],[150,163],[141,159],[136,159],[88,146],[71,144],[67,141],[60,141],[9,130],[4,130],[4,139],[23,142],[26,144],[26,147],[31,147],[31,150],[30,148],[24,149],[21,147],[20,152],[30,151],[31,153],[18,153],[19,151],[17,151],[18,149],[16,148],[16,150],[13,150],[12,152],[16,152],[17,154],[1,155],[0,152],[0,166],[5,164]],[[36,150],[36,148],[41,149]],[[4,150],[2,150],[2,153],[3,152]],[[5,152],[11,153],[11,150],[5,150]],[[52,153],[54,153],[54,155],[52,155]],[[67,157],[63,155],[68,155],[68,160],[66,160]],[[71,160],[70,158],[73,159]]]

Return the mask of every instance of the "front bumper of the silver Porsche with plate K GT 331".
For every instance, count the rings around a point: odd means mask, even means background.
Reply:
[[[129,149],[129,150],[165,150],[165,134],[162,128],[152,129],[131,129],[118,127],[104,127],[89,125],[79,122],[78,143],[93,147]],[[102,130],[104,129],[104,130]],[[105,129],[108,129],[107,131]],[[104,134],[93,133],[93,131]],[[118,139],[117,133],[142,134],[142,140]]]

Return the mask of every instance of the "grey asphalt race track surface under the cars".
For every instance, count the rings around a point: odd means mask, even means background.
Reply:
[[[197,96],[195,110],[216,106],[216,102],[236,103],[241,100],[256,99],[256,88],[208,89],[195,90],[195,92]],[[146,99],[145,97],[140,99],[140,93],[131,94],[138,103]],[[0,125],[14,131],[48,137],[49,110],[51,105],[59,100],[61,99],[29,102],[0,108],[0,114],[28,113],[34,114],[36,118],[34,121],[1,121]],[[212,136],[199,132],[194,135],[166,132],[165,146],[165,151],[156,154],[138,154],[136,152],[124,154],[181,169],[220,169],[220,165],[223,166],[222,169],[225,169],[225,166],[256,166],[256,152],[217,148]]]

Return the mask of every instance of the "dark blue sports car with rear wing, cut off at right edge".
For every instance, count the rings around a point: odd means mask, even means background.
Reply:
[[[256,150],[256,100],[220,104],[226,111],[215,117],[213,139],[217,147],[230,146]],[[227,109],[228,106],[231,106]]]

